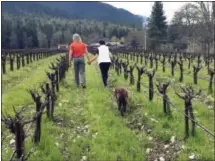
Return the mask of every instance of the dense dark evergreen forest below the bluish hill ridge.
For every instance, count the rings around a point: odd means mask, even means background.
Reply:
[[[68,20],[50,16],[2,15],[2,48],[50,48],[68,44],[74,33],[91,43],[100,38],[126,37],[132,28],[90,20]]]

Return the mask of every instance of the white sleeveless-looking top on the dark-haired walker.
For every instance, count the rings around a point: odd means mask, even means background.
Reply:
[[[100,63],[111,63],[111,59],[110,57],[112,56],[109,48],[106,45],[101,45],[100,47],[98,47],[98,64]]]

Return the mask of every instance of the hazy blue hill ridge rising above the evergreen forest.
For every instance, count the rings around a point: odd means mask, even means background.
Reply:
[[[2,2],[2,11],[11,14],[29,13],[66,19],[88,19],[140,28],[143,19],[127,10],[100,2]]]

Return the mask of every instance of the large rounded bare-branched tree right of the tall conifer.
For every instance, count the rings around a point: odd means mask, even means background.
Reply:
[[[211,4],[211,2],[188,3],[175,12],[170,25],[172,29],[168,32],[170,40],[180,41],[186,37],[187,45],[191,44],[192,49],[193,45],[196,45],[196,48],[197,46],[201,48],[198,52],[209,53],[213,41]],[[173,33],[177,33],[174,34],[174,40],[171,39]]]

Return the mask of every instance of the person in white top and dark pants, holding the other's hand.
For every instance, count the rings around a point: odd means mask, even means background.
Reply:
[[[97,59],[101,74],[102,74],[102,80],[104,83],[104,86],[107,87],[107,80],[108,80],[108,71],[111,65],[111,53],[108,48],[108,46],[105,45],[105,41],[100,40],[99,41],[100,46],[98,47],[96,57],[94,57],[92,60],[88,61],[88,64],[91,64],[93,61]]]

